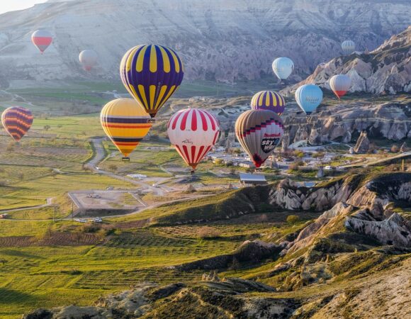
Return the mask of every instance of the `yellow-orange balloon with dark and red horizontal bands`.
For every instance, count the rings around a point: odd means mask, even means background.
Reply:
[[[123,159],[129,159],[128,155],[152,127],[150,116],[133,99],[108,102],[101,110],[100,122],[108,138],[124,155]]]

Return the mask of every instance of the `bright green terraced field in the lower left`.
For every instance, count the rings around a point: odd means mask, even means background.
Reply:
[[[101,245],[0,247],[0,317],[46,305],[86,305],[140,281],[198,280],[200,272],[171,266],[231,252],[240,242],[181,238],[154,228],[125,230]],[[10,246],[11,239],[1,243]]]

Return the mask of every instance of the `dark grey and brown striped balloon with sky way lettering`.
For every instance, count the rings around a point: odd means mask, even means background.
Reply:
[[[274,152],[283,133],[283,121],[273,111],[249,110],[235,122],[235,135],[256,167]]]

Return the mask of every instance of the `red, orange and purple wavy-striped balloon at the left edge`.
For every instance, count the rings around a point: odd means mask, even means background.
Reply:
[[[18,142],[30,130],[33,114],[28,108],[20,106],[6,108],[1,114],[1,124],[7,133]]]

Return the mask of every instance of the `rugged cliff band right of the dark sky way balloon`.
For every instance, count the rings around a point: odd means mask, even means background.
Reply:
[[[362,131],[368,138],[402,140],[411,137],[410,106],[408,98],[385,103],[342,101],[335,106],[320,106],[310,117],[294,115],[291,111],[283,118],[291,143],[300,140],[309,140],[311,145],[354,142],[354,136]],[[291,110],[293,107],[292,103],[288,105]]]

